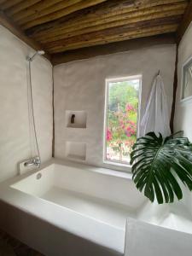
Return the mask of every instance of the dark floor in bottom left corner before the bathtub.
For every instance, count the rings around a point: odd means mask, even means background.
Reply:
[[[0,256],[44,256],[0,230]]]

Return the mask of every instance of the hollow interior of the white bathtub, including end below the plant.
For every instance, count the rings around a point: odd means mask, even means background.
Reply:
[[[11,187],[122,230],[127,218],[137,218],[192,233],[189,195],[172,205],[152,204],[137,191],[131,178],[90,171],[87,166],[53,164]]]

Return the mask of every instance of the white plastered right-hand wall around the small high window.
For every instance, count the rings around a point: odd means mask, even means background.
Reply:
[[[177,101],[174,119],[175,131],[183,131],[184,137],[189,137],[192,142],[192,101],[180,102],[182,90],[182,69],[183,64],[192,57],[192,23],[185,32],[178,47],[178,65],[177,65]],[[192,214],[192,195],[189,193],[188,205]]]

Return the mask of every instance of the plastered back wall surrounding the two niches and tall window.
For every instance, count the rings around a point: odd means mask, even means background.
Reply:
[[[73,61],[54,67],[55,157],[65,159],[67,141],[86,143],[85,163],[109,167],[102,162],[105,79],[142,74],[143,116],[154,75],[160,69],[171,112],[175,58],[176,46],[172,44]],[[86,129],[67,128],[67,110],[85,111]],[[119,169],[117,166],[113,168]]]

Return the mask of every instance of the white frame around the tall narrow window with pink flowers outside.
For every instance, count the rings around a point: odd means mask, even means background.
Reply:
[[[143,76],[142,74],[137,74],[134,76],[128,76],[128,77],[120,77],[115,79],[106,79],[105,80],[105,111],[104,111],[104,129],[103,129],[103,155],[102,155],[102,161],[104,164],[108,164],[111,166],[122,166],[122,167],[131,167],[130,164],[126,163],[120,163],[119,161],[115,160],[108,160],[107,159],[107,128],[108,128],[108,90],[109,90],[109,84],[115,83],[115,82],[124,82],[129,80],[139,79],[139,95],[138,95],[138,108],[137,108],[137,137],[139,134],[139,123],[140,123],[140,109],[141,109],[141,96],[142,96],[142,81]]]

